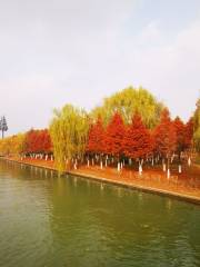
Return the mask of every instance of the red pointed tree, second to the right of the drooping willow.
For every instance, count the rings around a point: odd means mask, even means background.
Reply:
[[[106,131],[106,151],[118,159],[123,154],[123,137],[126,127],[120,113],[116,112],[107,127]]]

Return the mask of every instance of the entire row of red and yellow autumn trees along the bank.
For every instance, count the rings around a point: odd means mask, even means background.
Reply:
[[[56,109],[49,129],[33,130],[4,138],[1,154],[54,159],[59,171],[79,164],[99,164],[102,168],[137,162],[162,164],[163,170],[177,157],[200,151],[200,101],[194,115],[184,123],[171,119],[163,103],[143,88],[127,88],[106,98],[91,112],[71,105]]]

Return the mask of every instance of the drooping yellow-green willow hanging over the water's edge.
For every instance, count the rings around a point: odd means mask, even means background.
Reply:
[[[54,110],[50,123],[50,136],[53,144],[56,166],[60,172],[70,166],[72,159],[82,159],[89,129],[89,120],[84,110],[71,105]]]

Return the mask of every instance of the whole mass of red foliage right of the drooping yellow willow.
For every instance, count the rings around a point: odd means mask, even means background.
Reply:
[[[164,109],[160,123],[150,132],[139,113],[133,116],[131,125],[126,126],[120,113],[116,112],[106,130],[100,117],[91,125],[87,151],[132,159],[144,158],[152,152],[169,157],[190,146],[192,127],[191,120],[186,126],[179,118],[171,121],[168,109]]]

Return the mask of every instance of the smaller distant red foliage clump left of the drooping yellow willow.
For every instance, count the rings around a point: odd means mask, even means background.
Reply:
[[[49,131],[44,130],[33,130],[27,132],[26,135],[26,152],[51,152],[52,144]]]

